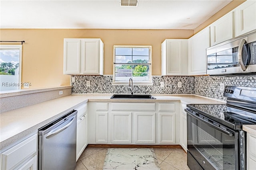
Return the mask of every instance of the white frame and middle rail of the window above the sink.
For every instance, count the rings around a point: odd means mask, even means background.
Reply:
[[[113,47],[113,80],[112,80],[112,85],[127,85],[129,83],[128,80],[123,80],[123,81],[116,81],[115,77],[115,65],[118,65],[118,63],[115,63],[116,61],[116,47],[125,47],[125,48],[149,48],[149,59],[148,63],[140,63],[140,64],[146,64],[149,66],[148,70],[148,76],[149,80],[148,81],[134,81],[133,80],[133,85],[141,85],[141,86],[152,86],[152,46],[151,45],[114,45]],[[127,63],[127,65],[130,65],[130,63]]]

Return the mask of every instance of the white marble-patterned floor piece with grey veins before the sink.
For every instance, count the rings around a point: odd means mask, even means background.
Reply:
[[[152,148],[109,148],[103,170],[160,170]]]

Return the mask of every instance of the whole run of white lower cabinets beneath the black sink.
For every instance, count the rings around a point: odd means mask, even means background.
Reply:
[[[89,144],[179,144],[179,103],[88,103]]]

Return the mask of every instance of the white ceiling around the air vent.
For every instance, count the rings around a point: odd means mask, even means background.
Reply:
[[[232,0],[0,0],[0,28],[195,29]]]

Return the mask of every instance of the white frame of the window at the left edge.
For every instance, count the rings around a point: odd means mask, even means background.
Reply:
[[[19,58],[19,90],[22,89],[22,45],[2,45],[0,44],[0,50],[20,50],[20,58]],[[4,90],[5,91],[5,90]],[[0,91],[0,92],[4,92]]]

